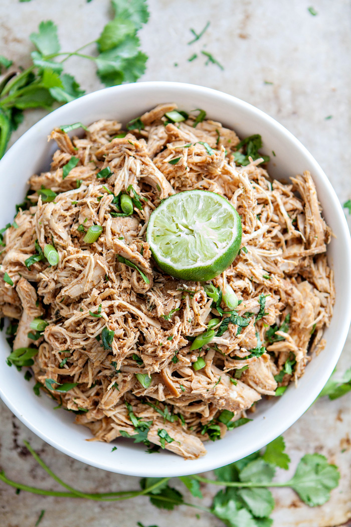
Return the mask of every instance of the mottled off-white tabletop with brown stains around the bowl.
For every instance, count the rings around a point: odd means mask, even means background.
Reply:
[[[312,0],[311,0],[312,1]],[[151,17],[141,31],[143,50],[149,55],[141,80],[169,80],[202,84],[236,95],[284,124],[322,165],[340,200],[351,197],[351,3],[349,0],[313,0],[317,16],[304,0],[149,0]],[[45,0],[19,3],[0,0],[0,54],[26,66],[31,46],[28,36],[41,20],[53,19],[63,49],[73,50],[92,41],[111,17],[108,0]],[[192,45],[190,27],[199,32],[210,21],[202,39]],[[205,65],[201,50],[223,64]],[[197,53],[198,58],[188,62]],[[67,61],[87,92],[100,89],[94,66],[82,60]],[[45,112],[29,111],[12,141]],[[330,119],[326,117],[332,116]],[[338,365],[343,372],[351,363],[349,336]],[[339,466],[342,478],[332,499],[310,509],[288,489],[276,490],[273,513],[276,527],[332,527],[351,517],[351,395],[315,403],[285,434],[292,470],[307,452],[326,455]],[[137,489],[138,479],[111,474],[72,460],[43,443],[0,403],[0,466],[16,481],[58,490],[23,447],[23,440],[43,456],[65,481],[87,492]],[[284,474],[285,477],[288,474]],[[175,486],[178,483],[175,482]],[[216,489],[204,486],[204,504]],[[187,499],[194,500],[191,496]],[[180,523],[219,527],[206,513],[180,507],[159,511],[143,497],[117,503],[43,497],[0,484],[0,525],[34,527],[42,509],[40,527],[134,527]]]

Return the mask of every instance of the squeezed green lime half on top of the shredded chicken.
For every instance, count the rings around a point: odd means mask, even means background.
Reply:
[[[207,281],[232,264],[242,241],[242,223],[222,196],[187,190],[154,210],[146,239],[154,260],[168,275]]]

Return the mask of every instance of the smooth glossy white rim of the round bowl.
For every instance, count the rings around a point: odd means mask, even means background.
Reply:
[[[326,174],[320,167],[320,165],[317,163],[317,161],[314,159],[313,155],[310,154],[310,152],[304,147],[304,145],[291,133],[289,132],[285,126],[280,124],[278,121],[273,119],[270,115],[266,114],[262,110],[256,108],[252,104],[249,104],[241,99],[238,99],[237,97],[233,95],[229,95],[227,93],[214,90],[212,88],[208,88],[205,86],[199,86],[196,84],[189,84],[189,83],[182,83],[182,82],[169,82],[169,81],[148,81],[148,82],[138,82],[135,84],[124,84],[119,86],[112,86],[103,88],[101,90],[94,91],[92,93],[86,94],[82,97],[79,97],[79,99],[76,99],[72,102],[69,102],[63,106],[60,106],[53,112],[49,113],[48,115],[44,116],[41,120],[39,120],[37,123],[35,123],[31,128],[29,128],[13,145],[9,150],[5,153],[3,159],[0,160],[0,170],[4,164],[5,161],[7,161],[8,158],[11,158],[14,155],[19,154],[21,149],[26,144],[27,138],[35,135],[35,133],[41,129],[42,126],[46,125],[47,122],[52,120],[52,116],[55,115],[55,118],[57,122],[59,122],[60,114],[66,113],[67,108],[77,108],[79,105],[86,106],[87,104],[94,105],[94,101],[97,99],[100,99],[101,97],[104,97],[104,94],[107,92],[116,92],[116,95],[123,92],[130,92],[131,96],[135,96],[135,94],[142,93],[144,89],[168,89],[168,88],[176,88],[178,90],[184,90],[193,92],[193,94],[204,94],[210,97],[217,97],[217,99],[222,100],[223,102],[228,102],[230,104],[235,104],[237,108],[240,110],[243,110],[244,112],[247,112],[248,114],[255,115],[256,118],[262,120],[266,124],[269,124],[271,128],[274,129],[274,133],[277,135],[281,134],[285,136],[285,139],[288,140],[290,143],[294,144],[295,147],[300,150],[305,157],[308,159],[310,165],[313,167],[314,170],[314,177],[317,177],[317,179],[322,180],[324,185],[328,188],[328,191],[330,193],[329,199],[332,202],[332,209],[337,214],[337,221],[339,223],[339,227],[342,231],[342,235],[346,242],[345,247],[345,264],[347,266],[348,270],[348,276],[347,280],[345,280],[345,288],[343,290],[344,295],[347,298],[351,297],[351,280],[350,280],[350,271],[351,269],[351,239],[350,239],[350,232],[347,226],[347,221],[345,218],[345,214],[343,212],[342,206],[336,196],[336,192],[334,188],[332,187],[332,184],[328,180]],[[314,399],[318,396],[320,391],[322,390],[323,386],[327,382],[330,374],[332,373],[337,360],[342,353],[343,346],[346,341],[348,329],[351,322],[351,302],[346,306],[343,320],[340,320],[340,327],[338,331],[337,341],[334,343],[334,354],[333,354],[333,360],[330,360],[330,364],[328,369],[323,370],[323,372],[320,372],[319,376],[319,382],[312,386],[310,391],[310,397],[306,398],[302,404],[300,404],[298,407],[295,406],[293,408],[290,408],[290,412],[286,412],[285,418],[282,419],[279,423],[275,423],[275,426],[272,427],[272,431],[269,433],[266,433],[264,435],[264,438],[262,437],[255,437],[253,439],[253,442],[250,443],[250,447],[246,447],[246,454],[248,455],[251,452],[254,452],[256,450],[259,450],[260,448],[264,447],[266,444],[268,444],[270,441],[273,441],[277,436],[284,433],[292,424],[294,424],[297,419],[304,414],[304,412],[309,408],[309,406],[313,403]],[[107,465],[106,463],[101,463],[95,458],[87,459],[86,456],[83,454],[80,454],[79,452],[72,452],[70,448],[66,445],[63,445],[61,443],[58,443],[55,441],[52,437],[49,437],[43,430],[39,430],[33,423],[31,423],[30,419],[28,419],[26,416],[22,415],[21,408],[16,406],[15,402],[13,402],[11,399],[7,397],[7,394],[3,391],[2,386],[0,386],[0,397],[6,404],[6,406],[11,409],[11,411],[24,423],[32,432],[34,432],[36,435],[42,438],[45,442],[49,443],[50,445],[57,448],[57,450],[76,458],[79,461],[82,461],[83,463],[86,463],[88,465],[92,465],[95,467],[98,467],[103,470],[117,472],[120,474],[128,474],[133,476],[154,476],[154,477],[162,477],[162,476],[179,476],[179,475],[185,475],[185,474],[192,474],[197,472],[205,472],[208,470],[215,469],[218,466],[223,466],[225,464],[231,463],[234,461],[235,455],[233,455],[232,458],[228,458],[226,455],[225,458],[223,458],[222,455],[220,455],[220,448],[218,448],[218,455],[216,455],[215,459],[218,461],[212,461],[210,462],[207,460],[207,456],[201,457],[198,460],[194,461],[188,461],[187,463],[178,463],[175,466],[172,466],[172,469],[169,470],[169,473],[165,473],[164,470],[156,469],[151,473],[143,472],[143,467],[140,466],[134,466],[134,467],[126,467],[123,466],[114,466],[111,467]],[[220,444],[220,442],[218,443]],[[243,456],[244,457],[244,456]],[[162,459],[162,458],[161,458]],[[167,460],[164,460],[164,465],[167,466]],[[198,464],[198,467],[194,467],[194,463]],[[191,466],[191,468],[190,468]],[[187,468],[188,467],[188,468]]]

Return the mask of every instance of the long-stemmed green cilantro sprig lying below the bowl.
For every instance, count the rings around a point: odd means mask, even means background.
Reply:
[[[130,404],[127,404],[129,418],[134,425],[136,434],[132,437],[137,442],[147,442],[147,433],[152,422],[143,422],[138,419]],[[225,420],[225,418],[224,418]],[[127,432],[121,434],[125,437],[131,435]],[[158,428],[160,440],[171,443],[173,438],[163,428]],[[85,493],[65,483],[54,474],[41,457],[33,450],[31,445],[24,442],[28,451],[33,455],[41,467],[64,487],[64,491],[38,489],[9,479],[4,472],[0,473],[0,481],[26,492],[58,497],[80,497],[94,501],[121,501],[144,495],[159,509],[174,510],[178,505],[188,505],[208,513],[222,520],[228,527],[249,525],[262,527],[272,525],[270,513],[274,509],[274,498],[270,492],[272,487],[290,487],[300,499],[310,507],[323,505],[330,498],[330,492],[339,482],[339,472],[335,465],[329,464],[326,457],[320,454],[306,454],[297,464],[295,474],[285,482],[274,481],[276,468],[287,470],[290,458],[285,453],[283,437],[278,437],[269,443],[264,452],[255,452],[242,460],[230,463],[215,470],[216,479],[208,479],[196,474],[181,476],[179,480],[186,489],[197,499],[202,499],[200,483],[223,486],[213,499],[210,508],[196,503],[187,503],[183,494],[169,485],[170,477],[146,477],[140,481],[141,490],[111,492],[111,493]],[[113,451],[115,448],[113,448]],[[153,448],[150,451],[154,451]],[[118,451],[117,451],[118,452]],[[138,523],[140,525],[140,522]],[[141,524],[142,525],[142,524]]]

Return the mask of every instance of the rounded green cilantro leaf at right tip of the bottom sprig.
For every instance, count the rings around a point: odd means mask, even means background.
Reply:
[[[306,454],[297,465],[293,478],[287,482],[310,507],[323,505],[330,491],[337,487],[340,474],[335,465],[329,465],[325,456]]]

